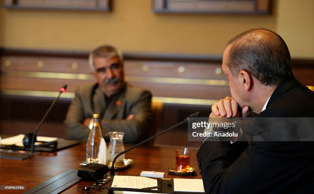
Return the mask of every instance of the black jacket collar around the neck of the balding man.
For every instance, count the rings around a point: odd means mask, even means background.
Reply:
[[[273,92],[272,96],[268,100],[266,108],[268,108],[274,101],[276,101],[280,96],[284,93],[289,91],[290,89],[294,88],[295,86],[301,85],[301,83],[293,77],[293,79],[289,79],[288,81],[280,84],[275,91]]]

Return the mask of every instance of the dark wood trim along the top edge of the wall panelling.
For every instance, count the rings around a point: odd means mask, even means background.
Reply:
[[[88,59],[89,51],[0,48],[0,56],[43,56]],[[222,63],[222,55],[123,52],[125,60]],[[295,68],[314,68],[314,59],[292,59]]]

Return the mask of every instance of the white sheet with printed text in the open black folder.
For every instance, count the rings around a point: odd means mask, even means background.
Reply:
[[[143,176],[114,176],[111,187],[142,189],[158,186],[157,180]]]

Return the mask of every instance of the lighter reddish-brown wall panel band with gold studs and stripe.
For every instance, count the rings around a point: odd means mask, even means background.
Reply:
[[[94,82],[87,59],[5,55],[1,64],[1,89],[58,91],[68,84],[68,92],[74,92],[78,85]],[[220,66],[126,59],[125,74],[127,81],[149,89],[154,96],[217,100],[230,95]]]

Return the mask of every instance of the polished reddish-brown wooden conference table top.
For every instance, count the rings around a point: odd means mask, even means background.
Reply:
[[[129,148],[131,145],[125,145]],[[169,178],[198,178],[197,150],[191,151],[190,164],[195,168],[195,176],[176,176],[168,174],[168,168],[175,165],[175,147],[139,146],[126,153],[125,158],[133,159],[133,163],[123,170],[116,171],[120,175],[139,176],[141,171],[165,172]],[[86,143],[56,151],[41,152],[24,160],[0,159],[0,185],[26,185],[26,191],[70,169],[78,169],[79,162],[86,157]],[[110,173],[110,172],[108,172]],[[94,182],[93,182],[94,183]],[[88,181],[78,181],[61,193],[80,193],[78,186],[89,186]],[[24,191],[0,191],[0,193],[23,193]]]

